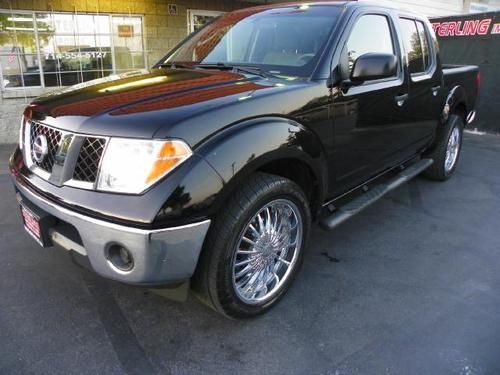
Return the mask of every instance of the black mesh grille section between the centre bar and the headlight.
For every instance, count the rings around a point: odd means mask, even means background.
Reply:
[[[73,180],[92,183],[96,181],[105,145],[106,140],[104,138],[85,138],[78,154]]]

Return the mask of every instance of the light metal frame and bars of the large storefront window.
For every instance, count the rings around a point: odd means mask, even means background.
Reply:
[[[23,80],[23,85],[20,86],[20,87],[4,87],[3,86],[3,77],[4,77],[4,74],[3,74],[3,67],[1,66],[0,64],[0,92],[12,92],[12,91],[20,91],[20,90],[26,90],[26,89],[46,89],[46,88],[58,88],[58,87],[66,87],[62,84],[58,85],[58,86],[50,86],[50,87],[47,87],[45,85],[45,79],[44,79],[44,74],[45,74],[45,71],[43,70],[43,67],[42,67],[42,59],[41,59],[41,56],[42,56],[42,53],[41,53],[41,48],[40,48],[40,40],[39,40],[39,32],[38,32],[38,27],[37,27],[37,24],[36,24],[36,14],[71,14],[72,16],[78,16],[78,15],[91,15],[91,16],[106,16],[107,19],[108,19],[108,25],[109,25],[109,28],[108,28],[108,33],[105,34],[105,33],[102,33],[102,32],[94,32],[94,33],[88,33],[88,32],[82,32],[82,33],[79,33],[78,30],[74,30],[73,31],[73,34],[68,34],[68,33],[61,33],[61,34],[58,34],[58,35],[73,35],[75,38],[76,38],[76,35],[80,36],[80,35],[85,35],[85,36],[94,36],[94,37],[97,37],[97,36],[109,36],[110,37],[110,48],[111,48],[111,63],[113,65],[113,69],[112,69],[112,73],[113,74],[116,74],[116,72],[118,71],[117,67],[116,67],[116,57],[115,57],[115,46],[114,46],[114,40],[113,40],[113,36],[115,35],[113,33],[113,17],[124,17],[124,18],[131,18],[131,17],[134,17],[134,18],[140,18],[141,20],[141,28],[140,28],[140,35],[137,35],[138,37],[141,38],[141,42],[142,42],[142,51],[133,51],[134,53],[136,52],[142,52],[142,55],[143,55],[143,59],[144,59],[144,64],[145,66],[147,67],[148,66],[148,60],[147,60],[147,50],[146,50],[146,39],[145,39],[145,35],[144,35],[144,21],[145,21],[145,17],[144,17],[144,14],[142,13],[134,13],[134,14],[127,14],[127,13],[100,13],[100,12],[68,12],[68,11],[36,11],[36,10],[20,10],[20,9],[5,9],[5,8],[0,8],[0,13],[4,13],[4,14],[19,14],[19,15],[26,15],[26,16],[31,16],[32,17],[32,20],[33,20],[33,34],[34,34],[34,39],[35,39],[35,48],[36,48],[36,53],[34,53],[34,55],[37,56],[38,58],[38,69],[40,71],[40,86],[26,86],[24,85],[24,80]],[[76,34],[75,34],[76,33]],[[101,47],[96,47],[96,48],[101,48]],[[19,52],[17,53],[17,60],[19,62]],[[101,69],[97,69],[98,71],[102,71],[103,70],[103,67],[101,67]],[[127,71],[128,69],[125,69],[125,70],[120,70],[120,71]],[[106,70],[107,71],[107,70]],[[21,69],[21,73],[22,73],[22,69]],[[80,73],[80,75],[83,77],[83,73],[84,71],[82,69],[80,69],[80,71],[78,71],[78,73]],[[54,74],[57,74],[57,72],[55,72]],[[62,83],[62,82],[58,82],[59,83]]]

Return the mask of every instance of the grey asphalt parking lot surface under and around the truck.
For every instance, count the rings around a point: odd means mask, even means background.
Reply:
[[[24,233],[0,146],[1,374],[500,374],[500,138],[314,228],[282,302],[224,319],[103,280]]]

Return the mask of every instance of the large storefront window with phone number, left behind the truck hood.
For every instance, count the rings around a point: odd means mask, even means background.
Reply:
[[[0,11],[1,88],[67,86],[146,67],[141,16]]]

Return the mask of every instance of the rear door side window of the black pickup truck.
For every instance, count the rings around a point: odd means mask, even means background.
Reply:
[[[400,18],[399,23],[401,25],[401,37],[403,38],[403,44],[405,46],[405,51],[408,54],[408,69],[411,74],[423,73],[427,70],[430,65],[429,61],[429,45],[427,43],[427,37],[425,37],[425,29],[421,22],[421,31],[417,29],[417,23],[414,20],[407,18]],[[423,40],[421,40],[421,34],[423,33]]]

